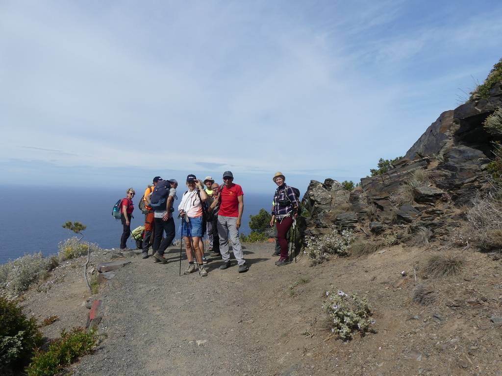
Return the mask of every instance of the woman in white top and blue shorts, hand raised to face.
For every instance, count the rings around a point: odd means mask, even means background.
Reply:
[[[202,238],[202,203],[207,200],[207,194],[204,190],[204,184],[197,180],[195,175],[187,176],[188,191],[183,194],[181,203],[178,206],[181,218],[180,231],[185,242],[185,248],[188,258],[188,267],[185,274],[193,273],[197,270],[194,264],[193,253],[198,264],[199,275],[207,276],[207,271],[204,268],[202,261],[202,249],[200,248],[200,240]]]

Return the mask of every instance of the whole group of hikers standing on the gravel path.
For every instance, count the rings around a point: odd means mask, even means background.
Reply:
[[[277,243],[275,256],[277,266],[291,262],[288,255],[287,234],[290,231],[300,207],[299,197],[295,189],[286,184],[282,172],[276,172],[273,181],[277,184],[272,202],[272,219],[270,226],[277,227]],[[239,239],[239,228],[244,210],[242,187],[233,182],[231,171],[223,172],[223,184],[214,182],[211,176],[199,180],[194,174],[186,178],[187,191],[182,195],[178,205],[178,218],[181,219],[179,234],[184,240],[188,266],[184,274],[198,270],[200,276],[207,276],[204,255],[204,234],[209,239],[208,251],[212,257],[221,257],[223,264],[220,269],[231,266],[229,241],[237,260],[237,271],[246,272],[249,267],[244,259]],[[153,178],[143,197],[139,208],[145,214],[145,228],[141,248],[143,258],[148,258],[152,246],[152,256],[155,262],[166,264],[164,253],[173,242],[176,231],[173,219],[174,201],[178,199],[176,179],[164,180],[160,176]],[[120,250],[127,250],[127,240],[131,235],[131,219],[134,211],[133,197],[136,191],[129,188],[126,197],[119,202],[120,221],[123,226],[120,238]],[[118,203],[117,203],[118,204]],[[165,237],[163,237],[165,235]]]

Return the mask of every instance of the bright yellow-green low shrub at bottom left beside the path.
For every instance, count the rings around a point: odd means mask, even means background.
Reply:
[[[61,332],[61,338],[54,341],[47,351],[38,351],[27,368],[28,376],[52,376],[71,364],[78,357],[91,352],[97,342],[94,331],[83,328]]]

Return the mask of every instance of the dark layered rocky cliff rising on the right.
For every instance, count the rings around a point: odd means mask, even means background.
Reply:
[[[361,179],[352,192],[333,179],[312,180],[303,198],[310,213],[305,233],[319,236],[352,229],[367,236],[397,235],[406,242],[418,231],[444,238],[460,226],[466,205],[486,188],[486,167],[497,141],[483,121],[502,106],[502,81],[489,97],[473,97],[443,112],[381,175]]]

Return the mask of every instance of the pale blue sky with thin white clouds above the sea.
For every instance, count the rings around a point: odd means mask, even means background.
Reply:
[[[368,174],[502,56],[499,1],[0,1],[0,183]]]

